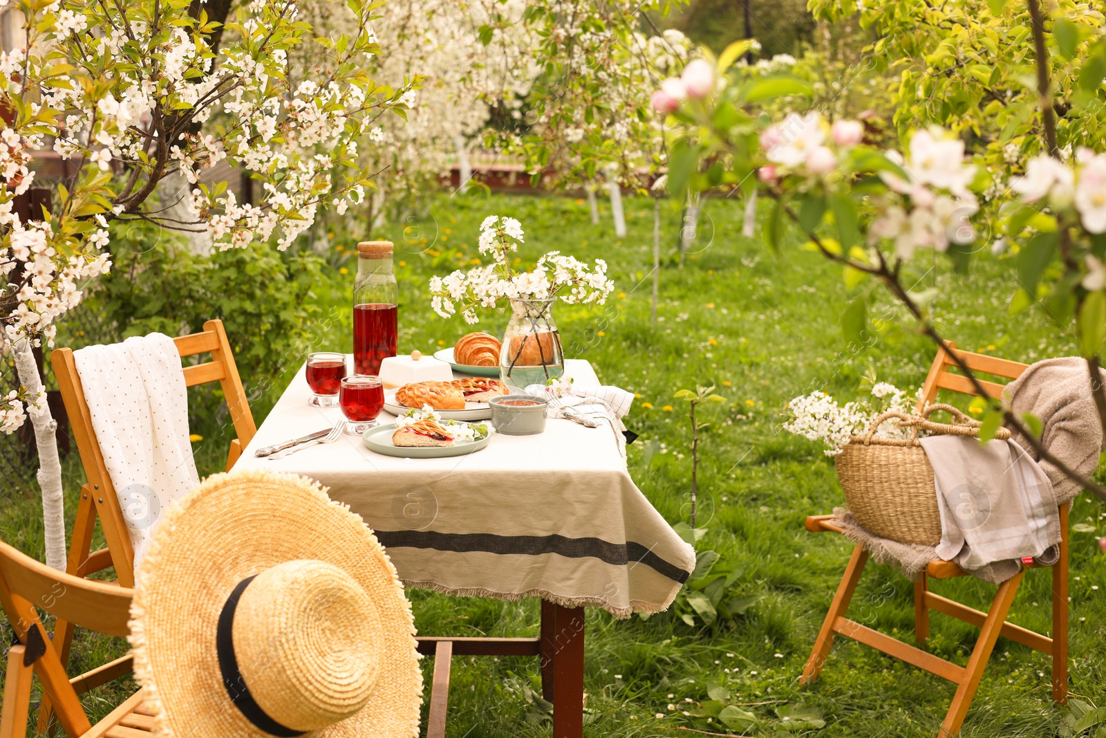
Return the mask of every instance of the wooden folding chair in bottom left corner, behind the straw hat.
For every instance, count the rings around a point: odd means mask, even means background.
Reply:
[[[0,708],[0,738],[23,738],[30,710],[31,676],[38,675],[66,735],[76,738],[142,738],[153,735],[154,718],[139,689],[95,726],[80,695],[129,674],[131,656],[70,678],[35,607],[98,633],[127,635],[132,590],[64,574],[0,542],[0,606],[19,644],[8,652],[8,676]]]

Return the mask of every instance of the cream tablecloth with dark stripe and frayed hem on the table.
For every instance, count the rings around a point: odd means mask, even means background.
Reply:
[[[585,361],[565,368],[578,386],[599,384]],[[355,436],[257,458],[257,448],[341,417],[336,407],[309,406],[309,395],[301,367],[234,468],[295,472],[328,487],[376,531],[408,586],[539,596],[629,617],[668,607],[695,568],[691,547],[634,485],[608,425],[550,419],[541,435],[495,435],[483,450],[453,458],[382,456]]]

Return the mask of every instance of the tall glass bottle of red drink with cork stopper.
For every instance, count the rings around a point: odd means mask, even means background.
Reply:
[[[380,362],[396,355],[399,285],[392,251],[392,241],[357,245],[353,288],[353,363],[357,374],[378,374]]]

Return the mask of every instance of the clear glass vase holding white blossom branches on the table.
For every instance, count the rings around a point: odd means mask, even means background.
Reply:
[[[499,378],[508,386],[524,389],[544,385],[564,374],[561,334],[547,300],[511,300],[511,320],[503,333],[499,354]]]

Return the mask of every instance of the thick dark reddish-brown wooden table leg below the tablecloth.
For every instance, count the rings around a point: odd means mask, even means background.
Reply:
[[[553,703],[553,738],[584,735],[584,609],[542,601],[542,694]]]

